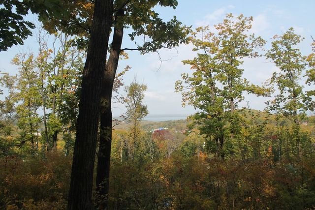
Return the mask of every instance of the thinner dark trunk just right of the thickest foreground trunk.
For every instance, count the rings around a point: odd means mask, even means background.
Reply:
[[[112,144],[112,90],[115,79],[115,74],[118,66],[119,55],[121,51],[124,26],[118,20],[119,16],[123,16],[124,11],[121,9],[117,12],[115,18],[115,28],[113,35],[112,48],[102,83],[101,93],[101,110],[100,110],[100,135],[99,135],[99,150],[97,159],[97,205],[99,209],[107,208],[107,196],[109,189],[109,168],[110,168],[110,153]]]

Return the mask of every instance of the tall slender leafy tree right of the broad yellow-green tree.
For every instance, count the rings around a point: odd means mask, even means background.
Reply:
[[[274,36],[271,49],[266,54],[267,59],[280,69],[280,72],[273,73],[270,80],[280,93],[267,102],[267,110],[293,122],[291,144],[294,145],[292,152],[297,157],[301,146],[300,122],[308,109],[306,104],[310,99],[306,97],[303,86],[300,85],[301,74],[306,68],[306,57],[295,46],[302,40],[303,38],[290,28],[283,35]]]

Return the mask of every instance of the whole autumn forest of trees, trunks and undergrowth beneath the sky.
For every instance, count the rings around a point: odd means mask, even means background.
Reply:
[[[176,0],[0,3],[1,51],[32,34],[24,15],[41,21],[36,49],[11,60],[18,73],[0,72],[0,209],[315,208],[314,39],[303,55],[294,28],[267,45],[244,15],[195,30],[164,22],[156,5]],[[144,42],[122,47],[126,28]],[[119,60],[180,44],[196,56],[174,91],[196,113],[143,121],[150,84],[125,85]],[[279,69],[261,86],[242,65],[258,57]],[[265,110],[240,107],[244,93],[268,97]]]

